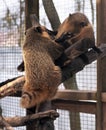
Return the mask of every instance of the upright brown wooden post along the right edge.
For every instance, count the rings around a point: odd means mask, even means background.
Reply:
[[[106,0],[97,0],[97,43],[106,44]],[[101,101],[102,92],[106,92],[106,57],[97,62],[96,130],[106,130],[106,103]]]

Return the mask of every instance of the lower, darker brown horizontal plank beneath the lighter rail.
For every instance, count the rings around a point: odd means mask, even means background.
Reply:
[[[52,105],[56,109],[69,110],[71,112],[96,113],[96,102],[55,99],[52,101]]]

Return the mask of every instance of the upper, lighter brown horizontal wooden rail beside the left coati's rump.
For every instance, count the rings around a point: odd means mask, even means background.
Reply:
[[[53,99],[64,100],[96,100],[96,91],[83,91],[83,90],[58,90]]]

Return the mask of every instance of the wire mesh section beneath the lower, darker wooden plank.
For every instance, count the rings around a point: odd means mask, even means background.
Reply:
[[[58,110],[60,117],[55,121],[55,130],[95,130],[95,115],[72,113],[70,119],[69,111]],[[71,120],[71,121],[70,121]]]

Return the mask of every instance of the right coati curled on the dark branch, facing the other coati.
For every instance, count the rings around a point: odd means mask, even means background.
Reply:
[[[95,46],[93,27],[89,22],[88,18],[83,13],[78,12],[78,13],[70,14],[68,18],[66,18],[65,21],[58,28],[58,33],[56,35],[55,41],[60,43],[62,46],[64,46],[65,49],[78,42],[79,43],[82,42],[84,44],[86,43],[88,48],[86,47],[86,45],[83,46],[84,47],[82,48],[83,51],[87,51],[87,49],[92,48],[97,53],[101,53],[100,49]],[[83,53],[82,49],[78,50],[79,54],[85,62],[88,62],[87,58],[81,54]],[[71,58],[70,60],[75,58],[72,57],[73,53],[76,53],[74,49],[68,52],[67,53],[68,55],[66,54],[69,59]],[[60,64],[59,61],[60,59],[57,60],[58,65]]]

